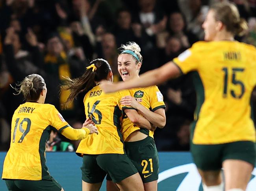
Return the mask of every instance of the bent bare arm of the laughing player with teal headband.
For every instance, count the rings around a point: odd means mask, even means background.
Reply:
[[[163,128],[165,126],[166,117],[165,110],[163,108],[157,109],[154,112],[150,111],[139,102],[137,102],[132,96],[123,97],[120,103],[124,106],[131,106],[134,109],[137,109],[137,111],[154,126],[157,126],[159,128]]]

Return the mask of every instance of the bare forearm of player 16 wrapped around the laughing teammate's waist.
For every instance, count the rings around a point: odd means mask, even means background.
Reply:
[[[142,127],[149,130],[155,130],[156,126],[151,124],[145,117],[139,115],[135,109],[124,109],[125,114],[130,121],[138,127]]]

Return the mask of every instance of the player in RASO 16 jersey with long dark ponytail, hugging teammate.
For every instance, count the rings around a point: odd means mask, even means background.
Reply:
[[[66,103],[85,92],[85,115],[98,128],[98,135],[83,139],[76,150],[78,155],[83,156],[83,191],[99,190],[107,173],[121,190],[143,191],[139,173],[124,151],[121,134],[123,111],[138,126],[148,129],[154,126],[135,109],[121,106],[121,98],[130,95],[129,91],[105,94],[99,88],[100,81],[113,81],[113,73],[106,60],[93,60],[81,77],[67,79],[68,84],[63,86],[63,89],[70,90]]]

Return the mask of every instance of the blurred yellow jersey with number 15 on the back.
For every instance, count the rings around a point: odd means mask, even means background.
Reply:
[[[255,142],[250,97],[256,85],[256,49],[237,41],[197,42],[173,60],[193,71],[197,108],[194,144]]]

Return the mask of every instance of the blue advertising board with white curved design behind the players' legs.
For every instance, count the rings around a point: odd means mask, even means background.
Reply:
[[[5,152],[0,152],[0,172]],[[159,152],[160,174],[159,191],[202,191],[201,178],[192,163],[189,152]],[[82,190],[81,171],[82,158],[70,152],[46,153],[50,174],[63,186],[65,191]],[[58,164],[58,165],[56,165]],[[68,170],[67,170],[68,169]],[[255,191],[256,168],[247,191]],[[5,182],[0,181],[0,190],[7,191]],[[106,190],[104,180],[100,191]]]

